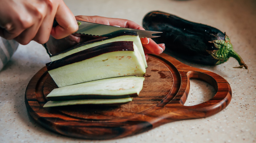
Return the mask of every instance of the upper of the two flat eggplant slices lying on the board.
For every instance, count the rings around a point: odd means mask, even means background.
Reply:
[[[75,99],[116,99],[137,97],[144,77],[122,76],[53,89],[46,97],[51,101]]]

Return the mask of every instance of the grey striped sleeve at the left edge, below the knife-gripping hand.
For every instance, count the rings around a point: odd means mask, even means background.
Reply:
[[[19,43],[0,37],[0,71],[18,48]]]

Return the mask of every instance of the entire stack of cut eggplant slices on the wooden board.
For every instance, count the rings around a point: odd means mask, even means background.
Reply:
[[[44,107],[121,105],[143,87],[147,63],[137,34],[79,43],[50,58],[46,67],[59,88]]]

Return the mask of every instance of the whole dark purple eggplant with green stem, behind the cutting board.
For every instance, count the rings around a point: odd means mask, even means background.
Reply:
[[[241,56],[233,50],[228,36],[212,26],[187,21],[162,11],[146,14],[142,26],[145,30],[163,32],[153,40],[165,43],[167,51],[183,59],[218,65],[234,57],[240,65],[234,68],[248,68]]]

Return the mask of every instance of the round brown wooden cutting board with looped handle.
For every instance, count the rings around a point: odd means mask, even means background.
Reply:
[[[46,95],[57,88],[46,67],[29,82],[25,102],[39,124],[62,135],[84,139],[113,139],[136,135],[162,124],[204,118],[223,110],[231,100],[231,88],[221,76],[185,65],[166,54],[149,55],[139,97],[121,106],[74,105],[43,108]],[[215,88],[207,102],[184,106],[189,79],[203,80]]]

